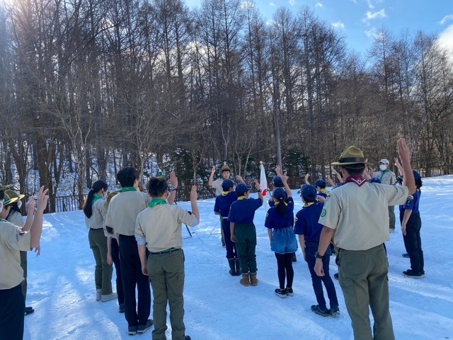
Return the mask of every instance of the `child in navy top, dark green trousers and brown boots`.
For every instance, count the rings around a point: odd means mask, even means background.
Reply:
[[[236,249],[241,265],[241,285],[258,285],[256,278],[256,229],[253,224],[255,211],[263,205],[263,193],[260,183],[255,180],[258,198],[249,198],[251,186],[239,183],[236,186],[238,200],[231,204],[228,222],[230,225],[231,241],[236,242]]]

